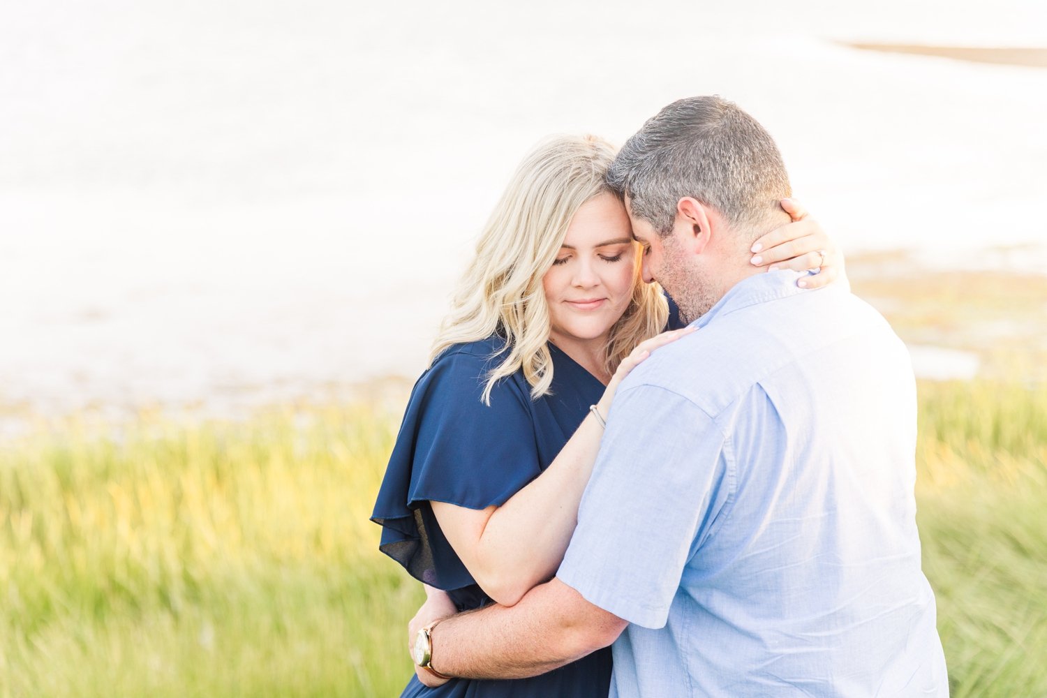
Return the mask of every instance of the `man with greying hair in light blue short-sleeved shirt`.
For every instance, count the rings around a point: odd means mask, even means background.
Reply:
[[[908,353],[844,285],[750,262],[787,221],[774,141],[729,102],[682,99],[609,179],[645,277],[700,330],[619,387],[556,578],[427,626],[421,663],[522,677],[614,641],[612,696],[948,695]]]

